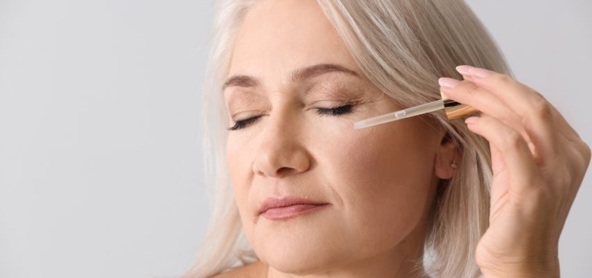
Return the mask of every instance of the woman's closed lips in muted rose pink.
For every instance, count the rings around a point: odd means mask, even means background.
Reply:
[[[316,202],[309,199],[286,196],[281,199],[267,198],[261,203],[259,207],[259,215],[266,213],[272,215],[274,218],[287,217],[295,215],[304,211],[325,205],[325,202]]]

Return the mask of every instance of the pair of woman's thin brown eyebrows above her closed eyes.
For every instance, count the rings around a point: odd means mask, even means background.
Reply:
[[[293,72],[290,72],[290,82],[297,83],[305,79],[310,79],[315,76],[327,74],[329,72],[342,72],[345,74],[350,74],[352,76],[359,77],[359,74],[357,74],[357,72],[349,70],[348,68],[343,67],[341,65],[317,64],[308,67],[301,67],[297,70],[294,70]],[[256,85],[259,85],[259,81],[253,76],[235,75],[226,79],[226,82],[224,82],[224,85],[222,85],[222,91],[231,86],[249,88],[255,87]]]

